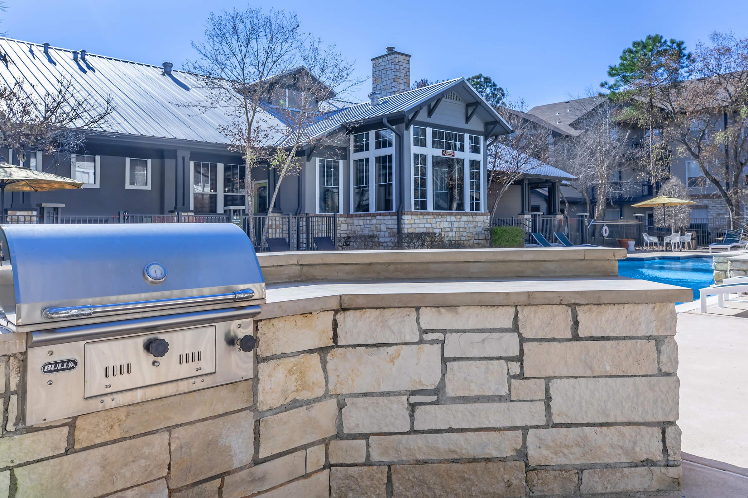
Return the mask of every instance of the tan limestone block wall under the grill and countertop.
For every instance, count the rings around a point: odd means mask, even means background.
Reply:
[[[0,334],[0,498],[680,488],[672,305],[332,308],[255,334],[254,380],[32,427]]]

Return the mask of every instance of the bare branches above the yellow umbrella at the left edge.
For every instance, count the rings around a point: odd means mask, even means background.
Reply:
[[[91,134],[105,131],[114,112],[111,97],[91,99],[73,81],[59,77],[50,90],[20,80],[0,84],[0,147],[70,158]]]

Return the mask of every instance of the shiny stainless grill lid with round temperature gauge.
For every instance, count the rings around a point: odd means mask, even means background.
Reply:
[[[257,255],[233,223],[5,225],[0,247],[0,306],[16,325],[265,298]]]

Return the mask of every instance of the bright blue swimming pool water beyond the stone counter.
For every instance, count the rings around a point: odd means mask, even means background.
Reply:
[[[655,259],[652,261],[625,259],[618,262],[618,274],[624,277],[690,287],[693,289],[693,299],[699,299],[699,289],[714,284],[711,258]]]

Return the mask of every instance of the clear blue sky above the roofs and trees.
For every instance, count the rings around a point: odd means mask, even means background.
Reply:
[[[7,35],[67,49],[181,67],[194,57],[210,10],[225,0],[6,0]],[[395,46],[411,78],[441,80],[482,72],[528,107],[585,93],[605,78],[631,41],[660,33],[693,49],[714,30],[748,37],[745,0],[601,1],[254,1],[295,10],[304,29],[336,43],[370,75],[370,59]],[[497,7],[489,7],[497,5]],[[365,99],[370,83],[355,93]]]

